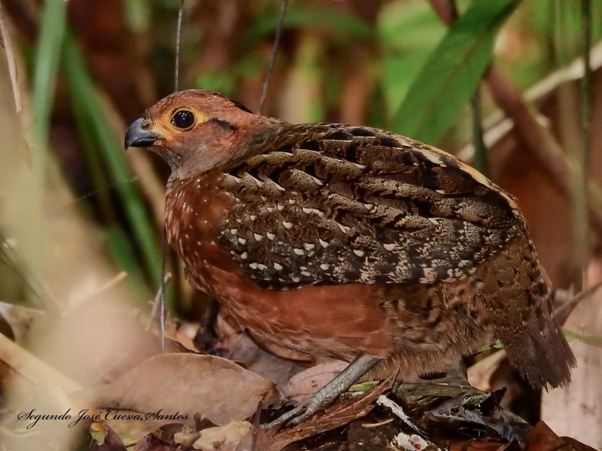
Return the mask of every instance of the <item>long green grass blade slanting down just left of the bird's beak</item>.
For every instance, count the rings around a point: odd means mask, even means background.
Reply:
[[[117,195],[134,234],[144,265],[152,280],[159,283],[161,280],[161,252],[152,221],[137,186],[131,183],[133,176],[127,164],[125,152],[111,133],[111,126],[101,108],[96,87],[88,73],[81,50],[70,35],[67,36],[64,43],[63,67],[73,101],[81,103],[78,110],[85,112],[83,120],[88,121],[94,130],[96,143],[101,149],[114,180]]]

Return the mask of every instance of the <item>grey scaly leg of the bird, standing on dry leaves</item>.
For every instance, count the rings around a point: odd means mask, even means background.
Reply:
[[[262,428],[269,429],[287,422],[291,425],[298,425],[303,420],[311,417],[318,409],[329,405],[341,393],[349,390],[349,387],[355,384],[361,376],[365,375],[380,360],[380,358],[372,357],[368,354],[358,355],[346,369],[338,373],[332,381],[320,388],[317,393],[308,397],[308,399],[300,403],[296,408],[281,415],[273,422],[262,425]]]

